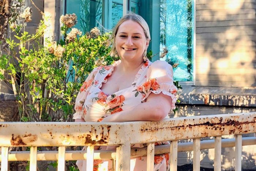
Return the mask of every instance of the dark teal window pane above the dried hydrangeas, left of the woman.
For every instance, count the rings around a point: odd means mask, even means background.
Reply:
[[[75,28],[83,31],[84,34],[95,26],[101,28],[102,4],[103,0],[67,0],[66,10],[67,14],[75,13],[77,15],[78,23]]]

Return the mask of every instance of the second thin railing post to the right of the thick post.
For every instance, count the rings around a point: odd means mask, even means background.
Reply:
[[[170,171],[177,171],[178,141],[171,141],[170,144]]]

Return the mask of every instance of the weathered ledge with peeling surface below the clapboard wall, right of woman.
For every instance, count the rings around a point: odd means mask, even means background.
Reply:
[[[256,107],[256,87],[183,86],[178,94],[180,104]]]

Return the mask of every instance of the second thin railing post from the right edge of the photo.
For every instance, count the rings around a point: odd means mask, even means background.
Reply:
[[[221,170],[221,136],[214,140],[214,171]]]

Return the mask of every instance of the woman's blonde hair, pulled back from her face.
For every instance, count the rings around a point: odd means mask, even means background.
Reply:
[[[140,24],[140,26],[142,26],[143,30],[144,30],[144,34],[146,36],[146,39],[147,41],[149,42],[150,41],[150,32],[149,32],[149,27],[148,27],[148,24],[147,22],[142,18],[142,16],[138,15],[138,14],[135,14],[133,12],[129,12],[128,14],[126,14],[125,16],[123,16],[116,24],[116,26],[113,28],[112,30],[112,35],[110,36],[110,42],[111,42],[111,50],[110,50],[110,53],[109,55],[114,57],[117,55],[117,52],[116,52],[116,34],[117,34],[117,31],[118,31],[118,28],[119,26],[127,21],[127,20],[132,20],[132,21],[135,21],[137,23]],[[110,45],[110,46],[111,46]]]

